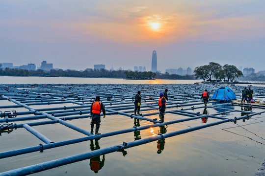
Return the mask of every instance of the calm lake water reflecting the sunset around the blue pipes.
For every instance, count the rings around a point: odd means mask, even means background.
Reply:
[[[159,84],[193,84],[196,80],[123,80],[107,78],[54,78],[54,77],[0,77],[1,84],[158,84],[152,88],[159,88]],[[183,87],[183,86],[182,86]],[[184,85],[185,87],[185,85]],[[187,86],[188,87],[188,86]],[[169,85],[168,94],[178,95],[178,85]],[[90,91],[90,89],[89,89]],[[196,93],[196,92],[195,92]],[[0,106],[14,105],[7,100],[1,100]],[[34,109],[62,106],[74,106],[72,103],[63,105],[33,105]],[[201,105],[198,105],[201,106]],[[197,107],[197,106],[195,106]],[[190,108],[190,107],[188,107]],[[227,107],[222,107],[227,108]],[[233,106],[235,110],[250,110],[261,112],[261,109],[242,109]],[[171,108],[170,110],[180,110]],[[5,109],[0,109],[4,111]],[[10,109],[9,109],[10,110]],[[17,111],[26,111],[17,108]],[[158,110],[141,111],[152,113]],[[218,109],[200,108],[188,110],[201,114],[213,114],[220,112]],[[28,115],[21,115],[28,116]],[[241,116],[240,112],[225,114],[224,117]],[[148,118],[158,118],[151,115]],[[182,115],[172,113],[165,114],[165,121],[185,118]],[[1,119],[1,118],[0,118]],[[26,122],[43,121],[23,121]],[[207,123],[215,122],[209,118]],[[67,122],[79,128],[90,131],[90,118],[68,120]],[[66,156],[90,152],[93,149],[106,148],[125,142],[134,141],[158,135],[158,133],[174,132],[190,127],[203,125],[202,119],[168,125],[163,128],[151,128],[140,132],[129,132],[102,138],[98,141],[85,141],[63,147],[45,150],[43,153],[34,152],[0,159],[0,172],[9,171],[45,161],[50,161]],[[129,129],[133,126],[145,126],[153,123],[145,120],[134,120],[123,115],[107,115],[102,119],[100,132],[112,132]],[[237,124],[227,122],[195,132],[166,138],[164,140],[150,142],[141,146],[126,149],[124,156],[121,152],[106,154],[104,159],[100,156],[101,167],[98,173],[92,171],[90,159],[53,168],[44,172],[32,174],[33,176],[253,176],[265,159],[265,114],[256,115]],[[64,141],[85,137],[84,134],[73,131],[61,124],[35,126],[35,130],[41,132],[53,141]],[[26,129],[17,129],[10,133],[2,133],[0,136],[0,152],[36,146],[43,143],[35,136],[29,134]],[[160,151],[158,151],[160,148]]]

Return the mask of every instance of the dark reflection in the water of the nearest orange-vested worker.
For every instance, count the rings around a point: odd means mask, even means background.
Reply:
[[[100,149],[99,139],[95,140],[95,146],[94,146],[93,140],[90,140],[90,149],[91,151]],[[100,156],[90,158],[90,163],[89,163],[90,169],[94,171],[95,173],[98,173],[99,170],[103,168],[104,163],[105,163],[105,154],[103,154],[102,160],[100,159]]]

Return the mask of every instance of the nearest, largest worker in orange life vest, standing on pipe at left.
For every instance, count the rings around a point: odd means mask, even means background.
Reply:
[[[91,114],[91,133],[94,132],[94,124],[96,123],[96,133],[95,134],[101,134],[99,133],[100,128],[100,114],[101,111],[103,112],[103,118],[106,117],[106,111],[104,104],[100,101],[100,97],[96,96],[95,101],[91,104],[90,107],[90,114]]]

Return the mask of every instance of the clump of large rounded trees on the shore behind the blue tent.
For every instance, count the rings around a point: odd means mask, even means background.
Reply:
[[[232,65],[224,65],[221,66],[218,63],[210,62],[209,65],[205,66],[197,66],[194,69],[196,79],[200,78],[204,81],[207,79],[212,81],[213,78],[216,81],[221,81],[222,79],[225,81],[234,81],[236,78],[240,78],[243,76],[242,71],[238,70],[236,66]]]

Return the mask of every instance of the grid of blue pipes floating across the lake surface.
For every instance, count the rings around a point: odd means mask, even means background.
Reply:
[[[190,120],[195,120],[203,117],[215,118],[219,119],[217,122],[200,125],[176,132],[169,132],[165,134],[159,134],[154,137],[149,137],[137,141],[128,142],[126,146],[124,145],[116,145],[104,149],[100,149],[93,152],[88,152],[85,154],[78,154],[74,156],[68,156],[65,158],[60,158],[57,160],[48,161],[45,163],[39,163],[37,165],[27,166],[24,168],[19,168],[7,172],[0,173],[0,176],[11,176],[14,173],[16,175],[28,175],[32,174],[32,172],[41,172],[45,170],[44,168],[54,168],[61,165],[77,162],[83,159],[88,159],[91,157],[95,157],[102,154],[108,154],[112,152],[116,152],[121,148],[127,149],[130,147],[142,145],[148,142],[156,141],[162,138],[172,137],[175,135],[180,135],[186,132],[192,132],[195,130],[200,130],[203,128],[211,127],[214,125],[218,125],[221,123],[226,122],[234,122],[236,123],[237,120],[246,119],[251,116],[259,115],[265,113],[265,111],[261,112],[251,112],[245,110],[233,110],[229,108],[222,108],[222,106],[241,106],[241,107],[253,107],[257,109],[265,109],[264,107],[256,107],[253,105],[238,105],[233,103],[219,103],[216,101],[210,101],[209,103],[212,105],[207,106],[207,108],[211,109],[219,109],[223,110],[223,112],[215,113],[215,114],[200,114],[195,112],[190,112],[187,110],[195,110],[195,109],[202,109],[205,108],[203,102],[200,100],[201,94],[205,88],[209,90],[209,92],[213,93],[216,87],[212,85],[205,85],[204,87],[197,87],[196,85],[188,85],[188,89],[186,88],[187,85],[130,85],[130,86],[122,86],[122,85],[0,85],[0,100],[8,100],[10,102],[15,103],[16,105],[10,106],[0,106],[0,110],[3,109],[10,109],[10,108],[26,108],[29,111],[20,111],[17,112],[17,116],[19,115],[27,115],[33,114],[34,116],[27,116],[27,117],[14,117],[14,118],[5,118],[0,119],[0,122],[16,122],[16,121],[24,121],[24,120],[36,120],[36,119],[49,119],[48,121],[38,121],[38,122],[31,122],[31,123],[22,123],[22,124],[14,124],[11,128],[19,129],[25,128],[27,131],[35,135],[45,144],[40,144],[33,147],[27,147],[24,149],[17,149],[13,151],[6,151],[0,153],[0,158],[12,157],[19,154],[28,154],[32,152],[37,152],[41,150],[52,149],[55,147],[60,147],[64,145],[70,145],[78,142],[83,142],[92,139],[98,138],[105,138],[112,135],[118,135],[127,132],[135,132],[140,130],[145,130],[148,128],[159,127],[164,125],[170,125]],[[89,87],[89,88],[88,88]],[[158,89],[158,87],[160,89]],[[177,87],[177,88],[176,88]],[[142,91],[142,106],[141,111],[149,111],[149,110],[157,110],[158,109],[158,94],[165,88],[170,89],[169,101],[167,102],[166,106],[166,113],[172,113],[182,116],[187,116],[188,118],[182,118],[178,120],[173,120],[169,122],[160,123],[156,119],[147,118],[148,116],[153,116],[159,114],[159,112],[152,112],[152,113],[143,113],[141,116],[130,114],[133,112],[134,105],[133,105],[133,96],[137,90]],[[99,91],[102,89],[102,91]],[[257,88],[258,92],[265,92],[264,88]],[[122,90],[122,91],[121,91]],[[256,91],[256,90],[255,90]],[[123,92],[123,93],[121,93]],[[237,97],[241,94],[241,88],[235,87],[235,93]],[[258,94],[258,97],[265,96],[262,93]],[[137,118],[140,120],[147,120],[153,122],[152,125],[141,126],[141,127],[132,127],[130,129],[124,129],[120,131],[114,132],[106,132],[101,135],[92,135],[90,132],[87,132],[83,129],[80,129],[77,126],[74,126],[65,120],[69,119],[79,119],[79,118],[89,118],[90,117],[90,106],[91,102],[93,102],[95,96],[101,96],[102,102],[106,105],[106,114],[119,114],[125,117],[130,118]],[[108,97],[111,97],[108,99]],[[110,100],[110,101],[109,101]],[[64,103],[72,103],[78,106],[63,106],[63,107],[53,107],[53,108],[41,108],[41,109],[34,109],[30,107],[30,105],[51,105],[51,104],[64,104]],[[187,109],[180,109],[181,107],[186,106],[193,106]],[[194,107],[195,106],[195,107]],[[221,107],[220,107],[221,106]],[[170,108],[180,109],[180,110],[170,110]],[[123,111],[121,111],[123,110]],[[227,118],[222,117],[219,115],[233,113],[233,112],[243,112],[248,113],[247,115],[243,115],[240,117],[234,118]],[[72,116],[77,115],[78,116]],[[0,117],[3,117],[6,114],[3,112],[0,113]],[[69,117],[68,117],[69,116]],[[69,127],[77,132],[81,132],[86,137],[71,139],[67,141],[61,142],[53,142],[52,140],[48,139],[46,136],[37,132],[33,129],[33,126],[39,125],[48,125],[59,123]],[[71,159],[69,161],[68,159]],[[30,170],[30,173],[29,173]]]

